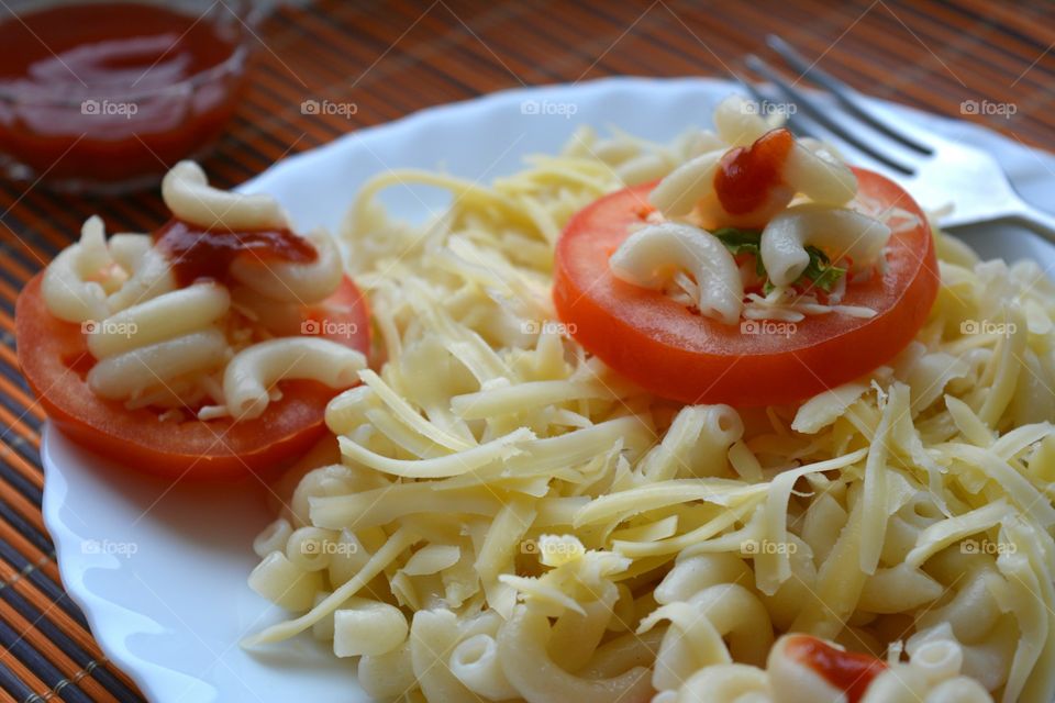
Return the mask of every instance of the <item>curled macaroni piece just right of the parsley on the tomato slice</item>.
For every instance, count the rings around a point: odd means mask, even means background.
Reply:
[[[762,233],[762,260],[769,280],[784,288],[810,263],[809,245],[831,252],[833,260],[848,257],[853,270],[866,270],[882,256],[890,227],[848,209],[797,205],[774,217]]]

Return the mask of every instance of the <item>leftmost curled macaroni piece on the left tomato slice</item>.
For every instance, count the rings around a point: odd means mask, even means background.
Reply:
[[[80,231],[80,242],[62,252],[44,270],[41,290],[47,309],[66,322],[99,321],[110,314],[107,290],[98,276],[113,259],[107,249],[102,220],[91,216]]]

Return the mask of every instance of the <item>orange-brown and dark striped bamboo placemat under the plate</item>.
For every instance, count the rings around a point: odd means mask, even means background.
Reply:
[[[352,130],[521,85],[725,76],[742,70],[746,53],[765,56],[770,32],[873,96],[1052,146],[1055,4],[1043,0],[331,0],[281,8],[258,29],[251,88],[204,167],[234,186]],[[302,114],[309,99],[356,111]],[[1014,114],[962,114],[964,101],[1010,104]],[[21,287],[89,215],[110,231],[149,231],[166,215],[153,192],[77,198],[2,180],[0,211],[0,701],[141,701],[63,591],[41,517],[44,414],[19,375],[12,315]]]

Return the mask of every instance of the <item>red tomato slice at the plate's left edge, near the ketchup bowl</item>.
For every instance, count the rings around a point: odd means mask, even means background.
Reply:
[[[30,280],[15,306],[19,364],[48,419],[89,449],[158,476],[233,479],[281,467],[325,434],[323,414],[336,391],[314,381],[282,381],[282,399],[259,417],[243,422],[163,423],[154,410],[127,410],[100,399],[85,380],[95,359],[80,325],[48,312],[41,295],[42,277]],[[351,280],[345,279],[320,308],[342,331],[332,338],[369,353],[366,299]],[[309,317],[312,314],[309,311]]]

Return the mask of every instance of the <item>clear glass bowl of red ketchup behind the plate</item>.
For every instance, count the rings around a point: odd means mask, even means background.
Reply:
[[[238,103],[247,5],[4,3],[0,169],[57,190],[116,193],[202,156]]]

